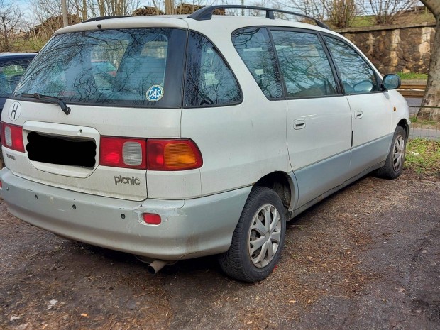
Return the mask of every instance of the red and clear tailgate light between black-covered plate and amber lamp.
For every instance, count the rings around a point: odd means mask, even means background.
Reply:
[[[99,165],[145,170],[146,141],[142,138],[101,137]]]

